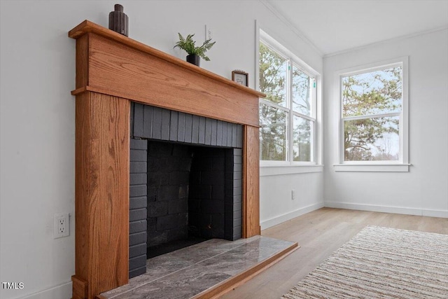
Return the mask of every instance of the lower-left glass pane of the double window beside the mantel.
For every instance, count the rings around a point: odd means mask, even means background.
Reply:
[[[261,160],[286,161],[288,113],[260,104],[260,156]]]

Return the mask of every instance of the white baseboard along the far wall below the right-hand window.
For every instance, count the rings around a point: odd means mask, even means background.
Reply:
[[[347,202],[325,202],[325,207],[336,209],[357,209],[360,211],[379,211],[382,213],[448,218],[448,211],[444,210],[388,207],[388,206],[379,206],[375,204],[351,204]]]

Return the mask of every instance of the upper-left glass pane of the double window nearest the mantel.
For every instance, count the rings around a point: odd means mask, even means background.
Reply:
[[[288,60],[260,43],[260,92],[268,101],[287,107]]]

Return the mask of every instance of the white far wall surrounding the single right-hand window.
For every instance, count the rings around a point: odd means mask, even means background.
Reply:
[[[409,172],[335,172],[335,72],[409,55]],[[324,58],[326,207],[448,217],[448,30]]]

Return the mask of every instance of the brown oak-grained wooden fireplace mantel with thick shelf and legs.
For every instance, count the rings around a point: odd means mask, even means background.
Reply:
[[[244,125],[243,237],[260,234],[260,92],[85,20],[76,39],[73,299],[127,284],[130,102]]]

